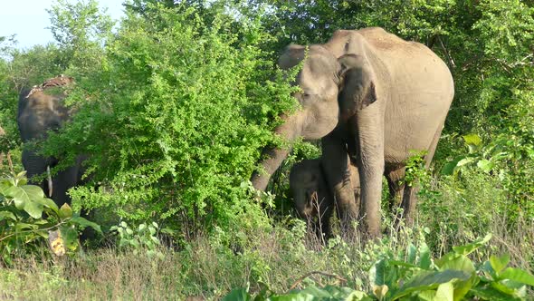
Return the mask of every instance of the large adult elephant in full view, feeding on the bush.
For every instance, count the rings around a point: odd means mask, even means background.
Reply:
[[[302,62],[304,61],[304,62]],[[326,44],[290,45],[282,69],[302,62],[294,94],[301,109],[282,116],[275,132],[288,141],[322,139],[324,170],[344,229],[358,218],[347,152],[357,161],[365,230],[380,235],[382,175],[404,177],[410,150],[427,150],[428,164],[453,101],[453,78],[446,64],[423,44],[406,42],[382,28],[339,30]],[[252,177],[265,189],[290,149],[264,150],[262,170]],[[410,219],[414,191],[404,190],[402,207]]]

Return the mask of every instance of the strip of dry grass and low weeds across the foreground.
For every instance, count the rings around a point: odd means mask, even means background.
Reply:
[[[510,215],[506,193],[482,175],[434,183],[422,191],[414,227],[394,228],[381,240],[333,238],[323,247],[303,222],[286,218],[275,227],[250,229],[244,238],[216,232],[191,238],[186,247],[86,250],[71,257],[21,257],[0,269],[2,300],[204,300],[220,299],[234,287],[283,293],[310,283],[367,290],[368,269],[382,257],[399,256],[426,243],[440,257],[453,246],[493,237],[471,255],[476,263],[509,253],[510,265],[534,271],[534,224]],[[459,184],[461,183],[461,185]],[[283,220],[283,219],[282,219]],[[307,277],[309,276],[309,277]]]

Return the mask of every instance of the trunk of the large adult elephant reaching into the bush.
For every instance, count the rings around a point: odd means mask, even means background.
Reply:
[[[295,139],[302,133],[302,113],[291,116],[282,115],[281,118],[284,120],[284,123],[278,126],[274,132],[280,135],[288,144],[279,148],[266,147],[262,151],[263,159],[260,162],[262,169],[254,171],[251,177],[254,189],[265,190],[267,188],[272,174],[278,170],[281,162],[290,154]]]

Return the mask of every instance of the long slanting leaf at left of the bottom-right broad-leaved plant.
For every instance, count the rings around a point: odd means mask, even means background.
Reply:
[[[420,273],[415,274],[415,276],[404,286],[400,287],[395,296],[392,297],[392,300],[407,296],[415,291],[435,289],[439,285],[454,279],[464,281],[469,279],[469,277],[471,276],[465,272],[450,269],[440,272],[421,271]]]

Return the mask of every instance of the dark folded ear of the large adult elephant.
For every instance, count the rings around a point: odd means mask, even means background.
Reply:
[[[343,116],[377,102],[375,76],[367,59],[362,55],[345,54],[339,59],[339,108]]]

